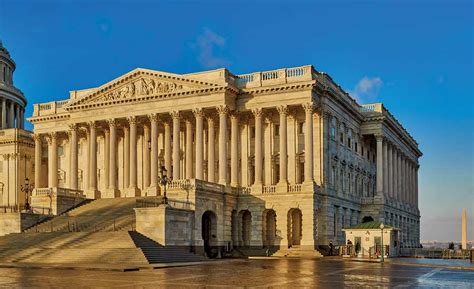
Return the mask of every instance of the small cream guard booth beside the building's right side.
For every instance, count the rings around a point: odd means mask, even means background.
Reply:
[[[400,254],[400,230],[382,222],[366,222],[342,229],[346,244],[341,246],[343,256],[360,258],[398,257]],[[383,238],[383,242],[382,242]]]

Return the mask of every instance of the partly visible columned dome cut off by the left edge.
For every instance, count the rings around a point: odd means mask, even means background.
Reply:
[[[26,98],[13,85],[15,62],[0,40],[0,129],[23,128]]]

